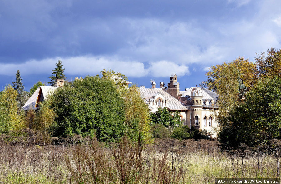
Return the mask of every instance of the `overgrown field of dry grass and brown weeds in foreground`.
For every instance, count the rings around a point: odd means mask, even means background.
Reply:
[[[156,139],[144,146],[126,137],[109,146],[95,139],[79,145],[28,147],[2,141],[0,183],[214,183],[214,178],[276,178],[274,155],[220,150],[216,141],[191,139]]]

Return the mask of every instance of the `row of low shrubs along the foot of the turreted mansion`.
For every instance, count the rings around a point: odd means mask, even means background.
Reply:
[[[174,131],[171,137],[175,139],[209,139],[209,135],[211,135],[206,130],[199,130],[195,129],[194,127],[191,127],[191,129],[188,126],[180,126],[177,127]]]

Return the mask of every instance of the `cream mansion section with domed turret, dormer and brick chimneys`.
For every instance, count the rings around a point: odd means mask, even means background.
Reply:
[[[212,133],[212,137],[216,137],[217,122],[214,113],[217,111],[217,93],[198,86],[180,91],[176,74],[170,76],[167,87],[164,82],[160,82],[159,88],[154,81],[151,81],[151,85],[151,88],[139,88],[141,97],[151,112],[156,112],[159,107],[166,107],[171,112],[178,111],[184,125],[207,130]]]

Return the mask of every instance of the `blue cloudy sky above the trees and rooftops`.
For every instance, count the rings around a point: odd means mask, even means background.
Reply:
[[[25,90],[61,59],[67,80],[121,72],[137,85],[195,87],[213,65],[281,48],[280,0],[0,1],[0,90]]]

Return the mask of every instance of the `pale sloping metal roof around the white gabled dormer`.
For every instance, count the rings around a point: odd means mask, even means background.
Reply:
[[[139,88],[143,98],[150,98],[160,93],[168,101],[167,108],[170,110],[188,110],[183,103],[175,99],[161,88]]]

